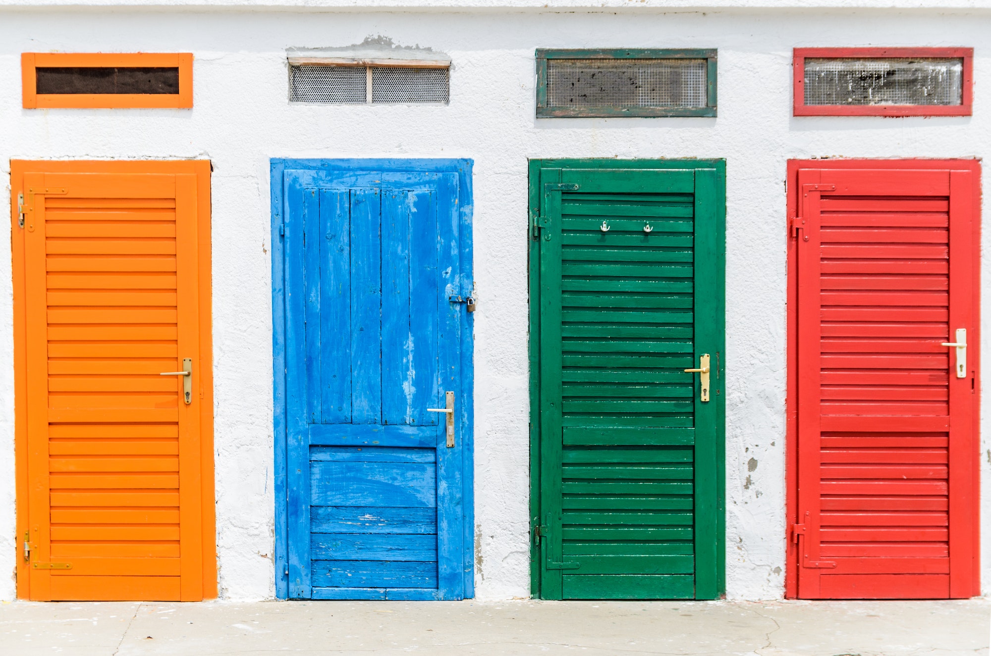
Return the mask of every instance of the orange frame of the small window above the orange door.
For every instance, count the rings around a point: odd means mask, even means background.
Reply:
[[[39,67],[178,67],[178,93],[38,93]],[[192,107],[192,53],[22,53],[25,109]]]

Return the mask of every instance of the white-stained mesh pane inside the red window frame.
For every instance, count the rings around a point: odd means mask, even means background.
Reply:
[[[960,105],[959,58],[807,58],[806,105]]]

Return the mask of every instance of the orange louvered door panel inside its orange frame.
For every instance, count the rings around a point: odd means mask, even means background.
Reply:
[[[197,175],[22,187],[30,599],[203,599]]]

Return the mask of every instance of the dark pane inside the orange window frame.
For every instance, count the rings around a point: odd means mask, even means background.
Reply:
[[[178,67],[37,68],[38,93],[178,94]]]

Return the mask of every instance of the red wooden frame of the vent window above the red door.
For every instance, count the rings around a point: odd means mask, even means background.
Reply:
[[[959,105],[806,105],[806,57],[962,57],[963,80]],[[796,48],[792,58],[794,116],[970,116],[973,105],[972,48]]]

